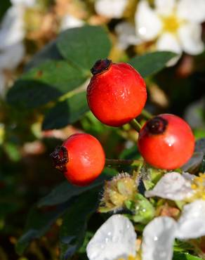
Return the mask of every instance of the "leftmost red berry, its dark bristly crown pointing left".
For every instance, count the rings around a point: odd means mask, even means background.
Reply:
[[[105,166],[105,152],[100,142],[90,134],[74,134],[51,153],[55,168],[65,174],[70,183],[86,186],[97,178]]]

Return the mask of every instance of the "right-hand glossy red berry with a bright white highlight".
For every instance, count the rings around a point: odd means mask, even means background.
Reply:
[[[180,117],[158,115],[141,129],[138,148],[145,161],[153,167],[176,169],[192,157],[194,136],[190,126]]]

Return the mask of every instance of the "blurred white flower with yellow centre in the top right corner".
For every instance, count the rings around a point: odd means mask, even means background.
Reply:
[[[205,20],[204,0],[155,0],[154,9],[142,0],[135,12],[136,31],[143,41],[157,40],[159,51],[204,51],[201,25]]]

